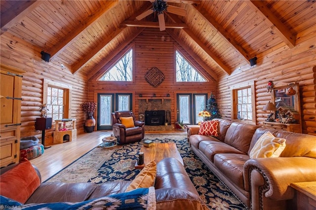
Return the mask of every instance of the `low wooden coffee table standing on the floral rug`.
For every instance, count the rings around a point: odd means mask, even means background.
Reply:
[[[140,152],[144,152],[144,164],[138,165],[136,161],[135,169],[143,169],[145,165],[152,160],[156,160],[156,163],[158,163],[160,160],[167,157],[174,157],[183,165],[182,157],[175,143],[154,143],[151,147],[143,145]]]

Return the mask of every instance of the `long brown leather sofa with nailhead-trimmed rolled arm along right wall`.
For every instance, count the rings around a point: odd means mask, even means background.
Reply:
[[[219,137],[198,135],[188,126],[188,140],[197,156],[249,209],[289,210],[294,182],[316,181],[316,137],[218,119]],[[250,159],[264,133],[286,140],[279,157]]]

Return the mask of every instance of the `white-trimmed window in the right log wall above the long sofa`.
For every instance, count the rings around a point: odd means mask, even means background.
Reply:
[[[254,82],[232,87],[232,118],[256,122]]]

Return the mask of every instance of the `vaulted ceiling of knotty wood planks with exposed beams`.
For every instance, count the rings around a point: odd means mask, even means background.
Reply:
[[[144,28],[158,28],[155,14],[136,20],[152,7],[148,0],[0,2],[1,35],[18,36],[49,53],[50,61],[88,78]],[[249,66],[250,58],[277,45],[294,48],[300,34],[316,27],[315,1],[167,0],[167,4],[187,13],[183,17],[165,13],[166,32],[197,55],[214,77]]]

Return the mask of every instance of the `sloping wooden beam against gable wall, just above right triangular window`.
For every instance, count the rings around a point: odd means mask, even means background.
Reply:
[[[209,67],[200,59],[193,50],[187,45],[183,44],[179,36],[174,32],[174,30],[166,29],[166,32],[176,41],[178,44],[215,80],[217,81],[217,75],[215,72],[210,71]]]

